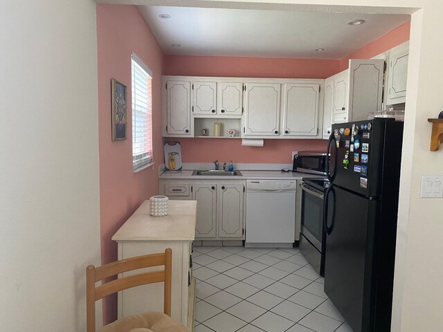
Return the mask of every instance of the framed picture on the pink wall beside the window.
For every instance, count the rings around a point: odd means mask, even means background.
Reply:
[[[125,140],[127,131],[127,87],[111,78],[112,140]]]

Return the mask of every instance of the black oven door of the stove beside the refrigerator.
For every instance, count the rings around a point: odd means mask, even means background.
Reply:
[[[324,193],[302,183],[302,234],[319,252],[323,252],[325,234],[323,230]]]

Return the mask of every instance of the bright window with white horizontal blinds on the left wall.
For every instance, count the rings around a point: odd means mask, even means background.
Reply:
[[[132,53],[132,168],[152,163],[152,71]]]

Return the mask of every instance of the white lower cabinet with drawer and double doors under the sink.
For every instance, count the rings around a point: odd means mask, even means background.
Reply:
[[[159,193],[171,200],[197,201],[196,239],[244,240],[245,185],[245,181],[239,180],[161,179]],[[188,196],[183,196],[188,187]]]

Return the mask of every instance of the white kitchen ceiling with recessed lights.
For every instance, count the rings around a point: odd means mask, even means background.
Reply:
[[[139,9],[166,55],[342,59],[410,20],[409,15],[352,12]],[[170,18],[161,19],[161,14]],[[346,24],[354,19],[363,19],[365,24]],[[317,48],[325,50],[318,52]]]

